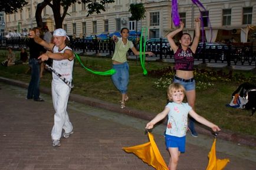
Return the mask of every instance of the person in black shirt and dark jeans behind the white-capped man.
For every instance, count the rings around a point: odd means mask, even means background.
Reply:
[[[32,28],[32,31],[37,34],[37,36],[40,36],[40,28],[35,27]],[[33,38],[29,38],[28,41],[28,47],[29,47],[29,61],[28,64],[31,68],[31,80],[28,85],[28,94],[27,99],[34,99],[34,101],[42,102],[44,101],[42,98],[40,98],[40,63],[41,61],[38,59],[38,56],[41,55],[43,51],[45,51],[44,47],[37,44]]]

